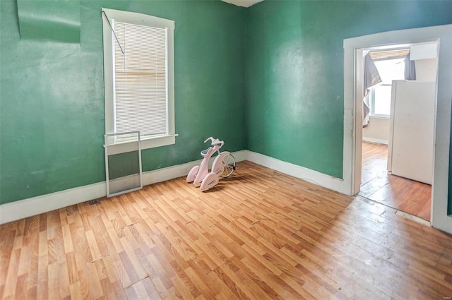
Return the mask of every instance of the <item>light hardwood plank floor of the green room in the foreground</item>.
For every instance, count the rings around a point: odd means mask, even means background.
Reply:
[[[452,236],[251,162],[1,225],[1,299],[445,299]]]

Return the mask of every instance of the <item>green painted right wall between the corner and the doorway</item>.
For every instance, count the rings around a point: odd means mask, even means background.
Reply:
[[[452,1],[271,1],[246,10],[248,150],[343,174],[343,40],[452,23]]]

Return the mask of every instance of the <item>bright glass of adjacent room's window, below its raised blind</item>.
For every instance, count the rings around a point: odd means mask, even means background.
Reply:
[[[371,88],[369,102],[371,116],[388,118],[391,114],[391,87],[393,80],[405,79],[405,58],[374,61],[381,83]]]

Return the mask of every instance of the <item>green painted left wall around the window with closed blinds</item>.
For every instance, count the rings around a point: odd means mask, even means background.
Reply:
[[[143,171],[198,160],[208,136],[225,140],[225,150],[246,147],[244,8],[220,1],[57,2],[0,1],[0,203],[105,181],[101,7],[176,24],[179,137],[176,145],[143,151]],[[40,8],[32,18],[30,6]],[[49,25],[65,20],[73,25]]]

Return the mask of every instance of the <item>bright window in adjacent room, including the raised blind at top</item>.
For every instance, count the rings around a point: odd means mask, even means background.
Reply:
[[[379,71],[381,83],[369,92],[370,115],[389,118],[391,114],[392,80],[405,79],[404,60],[410,49],[371,52],[371,57]]]

